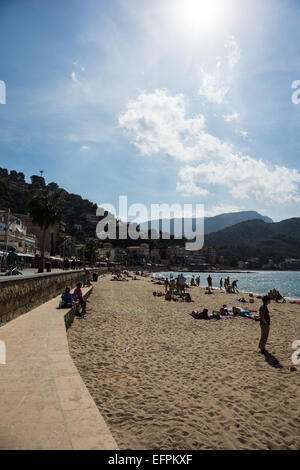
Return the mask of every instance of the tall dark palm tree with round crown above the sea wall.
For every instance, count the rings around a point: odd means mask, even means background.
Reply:
[[[42,230],[39,273],[44,272],[47,230],[51,225],[55,225],[62,220],[62,213],[58,205],[60,198],[61,191],[49,192],[42,190],[32,197],[28,205],[29,214],[33,223],[38,225]]]

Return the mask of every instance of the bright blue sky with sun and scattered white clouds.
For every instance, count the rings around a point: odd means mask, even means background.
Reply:
[[[0,0],[0,166],[93,202],[299,216],[300,2]]]

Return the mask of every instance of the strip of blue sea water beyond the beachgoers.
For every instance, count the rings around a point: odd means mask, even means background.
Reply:
[[[178,272],[166,271],[155,273],[155,277],[174,278]],[[207,276],[211,275],[213,287],[220,287],[220,278],[230,277],[230,282],[238,279],[237,287],[240,292],[267,294],[270,289],[277,289],[284,297],[300,300],[300,271],[251,271],[251,272],[183,272],[187,281],[192,276],[200,276],[200,285],[207,286]],[[223,283],[224,284],[224,283]]]

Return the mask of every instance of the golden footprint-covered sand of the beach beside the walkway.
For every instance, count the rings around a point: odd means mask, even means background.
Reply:
[[[163,286],[150,279],[101,277],[87,318],[68,331],[73,360],[119,448],[299,449],[300,366],[290,368],[300,305],[271,303],[266,358],[259,322],[188,315],[238,305],[236,295],[192,287],[195,303],[169,303],[152,295],[156,288]]]

